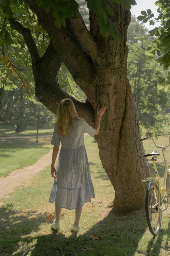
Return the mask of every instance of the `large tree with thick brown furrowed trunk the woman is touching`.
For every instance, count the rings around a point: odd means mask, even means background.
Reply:
[[[139,209],[145,201],[141,180],[149,175],[149,165],[143,158],[137,107],[127,78],[128,9],[135,1],[88,1],[90,31],[78,9],[73,8],[75,1],[62,3],[72,7],[67,15],[65,10],[68,6],[63,11],[56,6],[61,4],[60,1],[48,2],[40,1],[38,6],[36,0],[25,1],[31,15],[30,24],[35,22],[37,28],[44,29],[50,38],[43,55],[38,51],[32,29],[25,24],[28,18],[26,7],[21,9],[20,6],[19,9],[11,4],[13,14],[6,14],[11,30],[23,36],[29,49],[36,98],[55,114],[60,100],[71,98],[78,116],[92,127],[96,121],[97,107],[107,105],[108,110],[95,139],[101,162],[115,189],[113,211],[123,213]],[[115,2],[121,2],[121,5]],[[22,12],[26,16],[21,15]],[[75,14],[74,17],[70,12]],[[57,75],[62,62],[87,100],[78,100],[60,87]]]

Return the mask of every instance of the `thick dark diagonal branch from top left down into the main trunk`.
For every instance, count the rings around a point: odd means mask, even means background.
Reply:
[[[93,63],[87,51],[73,35],[70,27],[62,26],[58,29],[54,24],[51,12],[46,13],[38,7],[36,0],[25,0],[30,9],[36,13],[39,25],[42,26],[50,36],[54,48],[68,68],[70,74],[84,91],[87,97],[95,95],[95,88],[91,85],[93,80]]]

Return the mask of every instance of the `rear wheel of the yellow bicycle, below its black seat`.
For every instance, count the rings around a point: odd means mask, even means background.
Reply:
[[[152,235],[156,236],[161,228],[162,210],[158,207],[158,186],[153,182],[146,193],[145,211],[148,227]],[[161,201],[161,195],[160,195]]]

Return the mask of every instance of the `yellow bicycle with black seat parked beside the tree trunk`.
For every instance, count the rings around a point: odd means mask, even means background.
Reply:
[[[156,145],[154,139],[152,137],[145,137],[140,139],[140,141],[144,141],[147,139],[152,139],[155,146],[162,149],[164,164],[165,164],[165,172],[163,178],[163,186],[160,185],[160,177],[156,168],[156,161],[159,153],[157,153],[156,149],[154,149],[150,154],[144,155],[147,161],[152,161],[155,173],[151,174],[149,178],[142,180],[142,182],[147,182],[145,186],[146,190],[146,200],[145,200],[145,211],[146,218],[149,230],[152,235],[156,236],[161,228],[162,221],[162,212],[168,208],[168,203],[170,204],[170,169],[168,169],[167,159],[165,158],[164,151],[166,147],[170,145],[170,137],[169,137],[169,145],[159,147]],[[150,157],[150,159],[149,159]],[[163,205],[165,209],[162,211]]]

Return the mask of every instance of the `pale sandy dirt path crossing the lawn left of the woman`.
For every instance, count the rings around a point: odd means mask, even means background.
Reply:
[[[88,133],[84,133],[85,136],[87,134]],[[60,145],[60,148],[61,148],[61,145]],[[60,149],[59,149],[56,161],[58,160],[59,153],[60,153]],[[50,152],[48,154],[45,154],[44,156],[42,156],[33,165],[24,167],[23,169],[17,169],[11,172],[7,177],[0,178],[0,198],[9,197],[8,194],[11,193],[15,187],[21,185],[21,182],[25,182],[26,184],[28,184],[29,180],[33,177],[33,175],[47,168],[51,164],[51,159],[52,159],[52,149],[50,149]],[[3,202],[0,202],[0,205],[1,204],[3,204]]]

